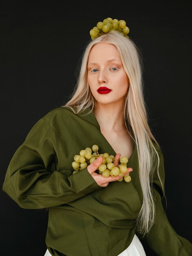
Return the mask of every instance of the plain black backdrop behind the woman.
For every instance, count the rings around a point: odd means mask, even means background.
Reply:
[[[126,20],[141,49],[149,124],[165,159],[166,213],[177,234],[192,242],[190,1],[1,2],[0,186],[32,126],[69,99],[89,31],[108,17]],[[43,256],[48,212],[22,209],[0,195],[0,254]]]

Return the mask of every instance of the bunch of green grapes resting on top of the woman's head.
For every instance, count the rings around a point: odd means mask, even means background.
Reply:
[[[111,30],[119,31],[123,36],[127,36],[129,28],[126,26],[125,20],[117,20],[112,18],[106,18],[102,21],[97,22],[97,26],[90,30],[89,34],[92,40],[100,35],[106,34]]]

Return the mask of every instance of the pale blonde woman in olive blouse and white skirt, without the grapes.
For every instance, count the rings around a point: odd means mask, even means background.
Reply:
[[[27,209],[49,208],[46,256],[189,256],[168,222],[161,148],[148,126],[138,49],[112,30],[92,38],[71,99],[42,117],[13,155],[3,190]],[[130,182],[103,177],[97,158],[73,174],[80,150],[128,157]],[[139,238],[138,238],[139,237]]]

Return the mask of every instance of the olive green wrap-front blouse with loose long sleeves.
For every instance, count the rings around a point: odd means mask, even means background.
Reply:
[[[87,168],[72,174],[73,157],[86,147],[97,144],[99,153],[116,154],[88,111],[75,115],[65,106],[42,117],[13,155],[2,188],[22,208],[49,208],[46,245],[53,256],[117,256],[135,235],[143,200],[136,144],[128,161],[131,182],[101,187]],[[163,154],[155,146],[164,182]],[[157,255],[192,255],[192,244],[174,231],[163,210],[157,170],[153,193],[156,217],[145,236],[148,245]]]

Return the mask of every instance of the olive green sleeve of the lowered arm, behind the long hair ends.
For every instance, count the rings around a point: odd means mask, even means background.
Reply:
[[[160,149],[157,150],[160,157],[159,174],[163,181],[165,180],[164,159]],[[156,173],[153,177],[153,195],[155,198],[155,221],[145,240],[150,248],[157,254],[163,256],[190,256],[192,255],[192,244],[187,239],[179,236],[168,221],[163,209],[161,200],[163,199],[163,190],[161,182]]]

